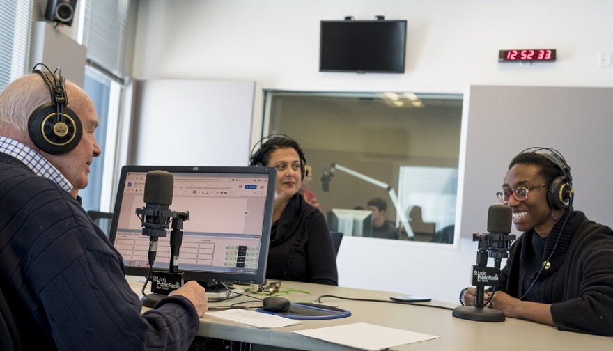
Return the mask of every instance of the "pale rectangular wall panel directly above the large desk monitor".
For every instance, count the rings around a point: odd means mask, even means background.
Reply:
[[[253,81],[143,81],[133,164],[246,166],[253,99]]]

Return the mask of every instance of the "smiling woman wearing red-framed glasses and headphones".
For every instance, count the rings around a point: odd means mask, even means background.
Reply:
[[[573,209],[571,167],[557,150],[528,148],[509,164],[499,201],[522,236],[487,306],[560,330],[613,336],[613,231]],[[476,289],[460,303],[472,306]]]

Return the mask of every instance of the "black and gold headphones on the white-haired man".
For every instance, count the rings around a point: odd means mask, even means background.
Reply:
[[[36,69],[39,65],[45,72]],[[38,73],[49,87],[51,103],[43,104],[34,110],[28,120],[28,132],[34,145],[45,153],[68,153],[79,145],[83,134],[81,120],[68,106],[68,95],[64,86],[61,69],[51,72],[49,68],[37,63],[32,73]]]

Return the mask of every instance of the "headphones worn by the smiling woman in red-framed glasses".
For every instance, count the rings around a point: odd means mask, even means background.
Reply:
[[[562,210],[571,206],[575,196],[573,176],[571,176],[571,167],[566,163],[564,156],[558,150],[538,146],[527,148],[521,153],[538,153],[561,169],[564,176],[557,176],[551,181],[547,192],[547,201],[554,210]]]

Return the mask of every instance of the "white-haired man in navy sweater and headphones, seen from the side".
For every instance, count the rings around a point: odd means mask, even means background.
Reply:
[[[141,314],[123,259],[79,203],[101,153],[98,123],[59,68],[38,64],[0,93],[0,281],[20,334],[13,343],[187,350],[208,309],[204,289],[186,283]]]

